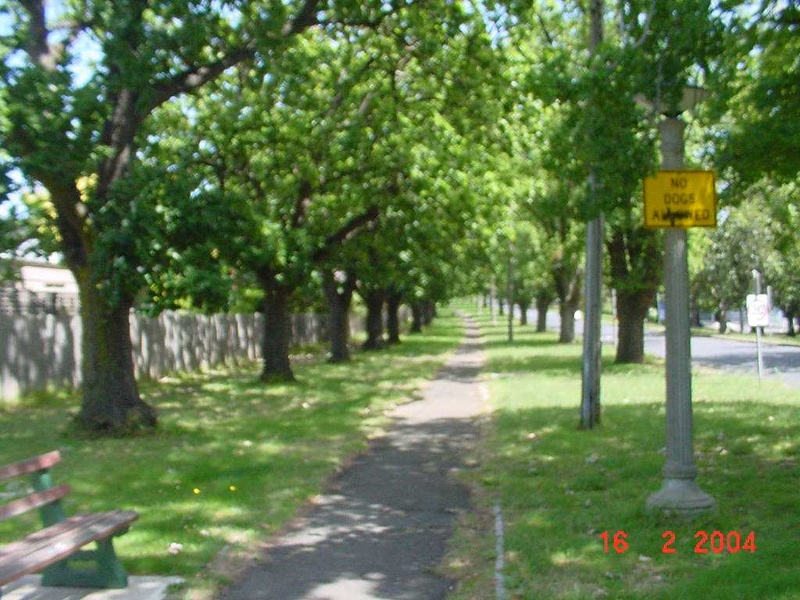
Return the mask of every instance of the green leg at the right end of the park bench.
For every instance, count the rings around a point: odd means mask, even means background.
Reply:
[[[75,562],[92,562],[94,568],[80,569]],[[114,552],[112,538],[97,542],[97,549],[80,552],[42,571],[42,585],[52,587],[124,588],[128,574]]]

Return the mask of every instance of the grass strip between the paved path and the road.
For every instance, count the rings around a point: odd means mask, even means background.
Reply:
[[[531,327],[509,344],[504,322],[478,319],[494,418],[468,476],[483,517],[465,520],[449,556],[454,598],[489,597],[499,503],[509,598],[800,599],[800,391],[696,373],[698,483],[718,510],[666,517],[645,509],[664,465],[663,363],[616,366],[605,348],[603,423],[580,431],[581,345]],[[695,553],[701,531],[707,553]]]

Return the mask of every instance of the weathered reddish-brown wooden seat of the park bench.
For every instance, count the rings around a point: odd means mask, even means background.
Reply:
[[[90,542],[127,529],[139,515],[132,510],[76,515],[0,548],[0,586],[40,571]]]

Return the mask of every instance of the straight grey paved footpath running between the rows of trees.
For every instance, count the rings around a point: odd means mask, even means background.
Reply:
[[[470,508],[453,477],[479,435],[484,398],[477,326],[386,436],[333,481],[309,514],[271,542],[227,600],[436,600],[455,519]]]

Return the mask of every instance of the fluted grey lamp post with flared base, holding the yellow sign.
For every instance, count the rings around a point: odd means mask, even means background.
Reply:
[[[683,168],[685,124],[678,114],[660,123],[662,168]],[[692,364],[689,321],[689,264],[685,229],[669,228],[665,239],[667,458],[661,489],[647,499],[650,509],[697,514],[714,499],[697,485],[692,426]]]

